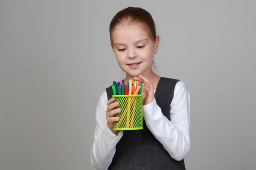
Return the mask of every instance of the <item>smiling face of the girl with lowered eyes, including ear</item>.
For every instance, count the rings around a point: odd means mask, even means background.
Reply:
[[[112,33],[113,51],[120,68],[131,77],[150,74],[159,39],[152,41],[139,23],[120,24]]]

